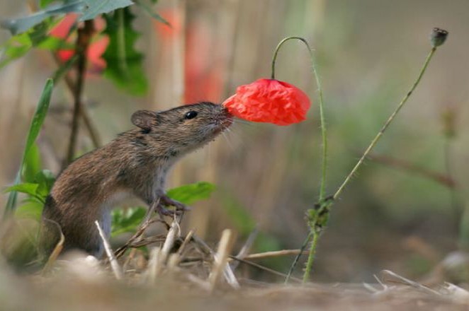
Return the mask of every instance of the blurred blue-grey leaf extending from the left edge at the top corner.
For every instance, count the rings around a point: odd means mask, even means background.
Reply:
[[[0,27],[10,30],[12,35],[24,33],[35,25],[42,23],[46,18],[51,16],[62,15],[72,12],[81,12],[85,7],[84,1],[73,1],[66,4],[52,4],[47,6],[43,11],[38,11],[30,16],[22,18],[11,18],[0,21]]]

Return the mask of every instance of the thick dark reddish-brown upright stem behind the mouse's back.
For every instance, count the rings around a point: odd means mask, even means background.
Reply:
[[[77,60],[77,82],[74,85],[74,110],[72,117],[72,129],[70,131],[69,147],[67,151],[67,158],[64,165],[71,163],[77,146],[79,118],[82,114],[81,110],[81,95],[83,93],[84,77],[86,71],[86,51],[88,50],[89,43],[91,42],[91,35],[94,33],[93,20],[86,20],[84,27],[78,30],[77,47],[75,54],[78,55]]]

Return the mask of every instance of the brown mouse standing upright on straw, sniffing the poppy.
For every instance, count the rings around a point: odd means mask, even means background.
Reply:
[[[148,205],[185,209],[169,199],[164,187],[171,166],[186,153],[213,141],[232,124],[222,105],[200,102],[162,112],[139,110],[132,115],[137,128],[125,131],[101,148],[86,153],[57,177],[43,210],[40,245],[52,252],[64,234],[64,251],[79,249],[101,257],[103,245],[94,221],[111,233],[111,209],[125,196]]]

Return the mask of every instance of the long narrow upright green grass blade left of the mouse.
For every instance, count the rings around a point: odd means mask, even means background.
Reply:
[[[19,184],[21,182],[21,172],[23,171],[23,165],[26,158],[28,158],[28,152],[33,148],[36,138],[38,137],[40,128],[43,125],[45,116],[47,115],[47,110],[49,109],[50,98],[52,96],[52,89],[54,88],[54,81],[52,79],[47,79],[45,83],[43,93],[40,95],[38,107],[34,112],[33,121],[30,124],[28,131],[28,138],[26,139],[26,146],[23,151],[23,157],[21,158],[20,168],[16,174],[16,179],[13,184]],[[11,214],[16,206],[16,198],[18,194],[16,191],[10,192],[9,199],[6,202],[4,216]]]

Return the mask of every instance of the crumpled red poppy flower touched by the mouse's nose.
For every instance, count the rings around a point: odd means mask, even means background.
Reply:
[[[222,105],[236,117],[254,122],[289,125],[306,119],[311,102],[307,95],[290,83],[259,79],[239,86],[236,94]]]

